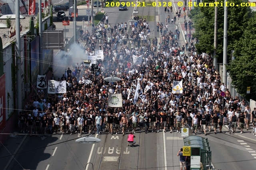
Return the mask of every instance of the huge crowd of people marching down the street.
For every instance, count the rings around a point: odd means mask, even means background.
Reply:
[[[93,55],[96,46],[104,51],[104,61],[96,63],[100,74],[94,74],[83,63],[77,63],[73,71],[68,68],[66,76],[60,78],[66,80],[67,93],[48,94],[44,99],[43,91],[39,90],[25,105],[25,111],[20,112],[21,132],[30,136],[33,133],[125,135],[161,130],[180,133],[180,128],[187,124],[195,134],[206,135],[211,126],[217,134],[231,122],[234,133],[236,125],[240,133],[253,127],[256,136],[256,108],[252,110],[244,100],[230,95],[210,56],[197,54],[195,48],[180,47],[175,43],[177,32],[169,31],[170,37],[163,35],[162,43],[156,37],[151,42],[146,19],[134,17],[134,20],[138,22],[129,24],[130,35],[126,22],[114,27],[109,23],[93,27],[102,30],[103,42],[98,42],[89,31],[81,32],[86,42],[85,53]],[[120,41],[127,37],[134,40]],[[164,41],[165,37],[169,39]],[[143,55],[142,63],[134,64],[132,55]],[[111,75],[121,81],[104,81]],[[172,93],[174,81],[182,81],[181,94]],[[134,102],[138,82],[140,96]],[[122,107],[108,107],[109,93],[122,94]]]

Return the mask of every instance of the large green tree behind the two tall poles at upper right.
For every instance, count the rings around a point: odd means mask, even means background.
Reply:
[[[215,0],[204,0],[204,2],[215,2]],[[218,0],[222,2],[223,0]],[[243,0],[230,0],[230,3],[240,4]],[[189,16],[195,28],[193,37],[199,39],[196,44],[198,53],[214,53],[214,7],[204,6],[195,7],[191,10]],[[243,30],[246,29],[248,18],[251,18],[250,7],[234,6],[228,7],[228,56],[231,50],[234,50],[234,42],[242,37]],[[223,30],[224,30],[224,6],[218,6],[218,30],[217,30],[217,48],[216,57],[218,63],[222,61],[223,57]],[[192,31],[193,32],[193,31]],[[228,57],[229,58],[229,57]]]

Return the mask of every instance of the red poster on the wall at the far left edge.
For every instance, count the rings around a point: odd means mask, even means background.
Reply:
[[[6,126],[6,113],[5,113],[5,74],[0,77],[0,132]]]

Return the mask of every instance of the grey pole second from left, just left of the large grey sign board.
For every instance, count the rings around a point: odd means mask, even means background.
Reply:
[[[42,0],[39,0],[38,2],[38,6],[39,6],[39,74],[43,75],[44,71],[43,71],[43,36],[42,36]]]

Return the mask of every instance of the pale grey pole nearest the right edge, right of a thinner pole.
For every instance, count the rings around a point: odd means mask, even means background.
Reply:
[[[227,0],[225,0],[226,4]],[[227,44],[228,44],[228,7],[224,6],[224,43],[223,43],[223,82],[227,85]]]

